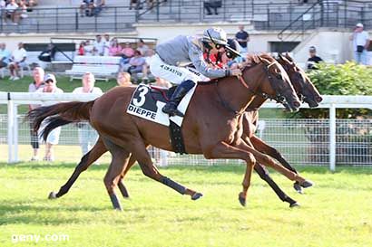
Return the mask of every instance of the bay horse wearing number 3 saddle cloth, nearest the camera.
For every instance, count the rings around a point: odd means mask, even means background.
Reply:
[[[188,153],[203,154],[206,158],[239,158],[246,162],[243,190],[240,192],[240,199],[243,198],[244,201],[256,159],[260,163],[275,167],[291,180],[299,181],[300,185],[308,183],[305,178],[279,166],[268,156],[260,154],[253,147],[245,144],[241,138],[241,115],[254,96],[266,94],[274,97],[276,95],[272,88],[274,83],[271,81],[275,81],[277,92],[287,100],[286,108],[299,109],[299,98],[289,83],[287,73],[283,71],[279,63],[260,57],[259,60],[260,62],[255,66],[243,70],[242,80],[229,77],[198,86],[182,126]],[[114,187],[120,180],[125,167],[128,166],[131,155],[134,161],[138,161],[145,176],[170,186],[182,195],[191,195],[193,200],[200,198],[201,193],[162,176],[153,166],[146,147],[152,145],[171,151],[168,128],[125,113],[133,90],[133,88],[114,88],[97,100],[59,103],[34,109],[29,112],[29,117],[34,117],[35,129],[40,127],[40,123],[45,118],[54,115],[56,116],[49,119],[47,127],[49,129],[71,121],[90,120],[93,128],[99,132],[104,145],[98,150],[93,148],[88,152],[78,167],[84,169],[86,164],[109,149],[113,160],[104,182],[115,209],[122,209],[122,207],[114,193]],[[69,181],[75,181],[77,176],[79,174],[73,175]],[[52,197],[59,197],[66,192],[63,186],[60,192]]]

